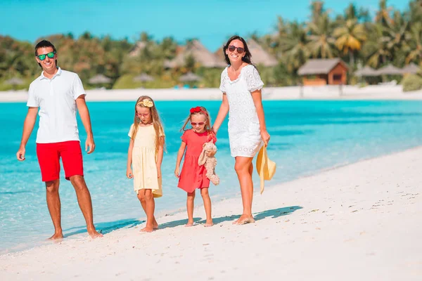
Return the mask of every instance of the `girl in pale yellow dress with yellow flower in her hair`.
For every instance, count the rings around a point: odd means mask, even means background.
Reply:
[[[154,198],[162,196],[161,162],[165,149],[164,130],[152,98],[141,96],[136,100],[134,124],[128,136],[126,176],[134,178],[134,190],[146,213],[146,227],[141,231],[151,232],[158,228]]]

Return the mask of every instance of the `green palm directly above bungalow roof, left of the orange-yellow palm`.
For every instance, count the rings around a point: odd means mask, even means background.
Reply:
[[[309,22],[309,43],[307,48],[314,58],[333,58],[335,39],[332,36],[333,23],[327,13],[323,13],[316,22]]]

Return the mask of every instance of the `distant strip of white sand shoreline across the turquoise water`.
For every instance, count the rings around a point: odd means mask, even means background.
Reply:
[[[402,86],[375,85],[359,88],[343,86],[340,96],[338,86],[299,86],[264,88],[264,100],[422,100],[422,91],[404,93]],[[302,92],[302,93],[301,93]],[[89,90],[87,100],[91,101],[125,101],[136,100],[148,95],[155,100],[221,100],[219,89],[122,89]],[[18,103],[27,100],[27,91],[0,92],[0,103]]]

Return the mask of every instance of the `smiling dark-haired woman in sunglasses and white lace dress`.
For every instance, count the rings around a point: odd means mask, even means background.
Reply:
[[[234,36],[223,47],[229,65],[222,72],[220,90],[222,105],[214,123],[217,134],[229,112],[229,140],[231,156],[236,159],[234,169],[241,185],[243,214],[234,224],[255,222],[252,216],[252,159],[262,141],[268,145],[269,133],[265,126],[261,89],[264,83],[250,58],[245,39]]]

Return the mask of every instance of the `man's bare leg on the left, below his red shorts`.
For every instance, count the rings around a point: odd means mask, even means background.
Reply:
[[[53,221],[54,234],[49,239],[56,240],[63,238],[63,231],[61,228],[61,214],[60,214],[60,196],[58,195],[58,185],[60,180],[46,182],[46,199],[47,207]]]

